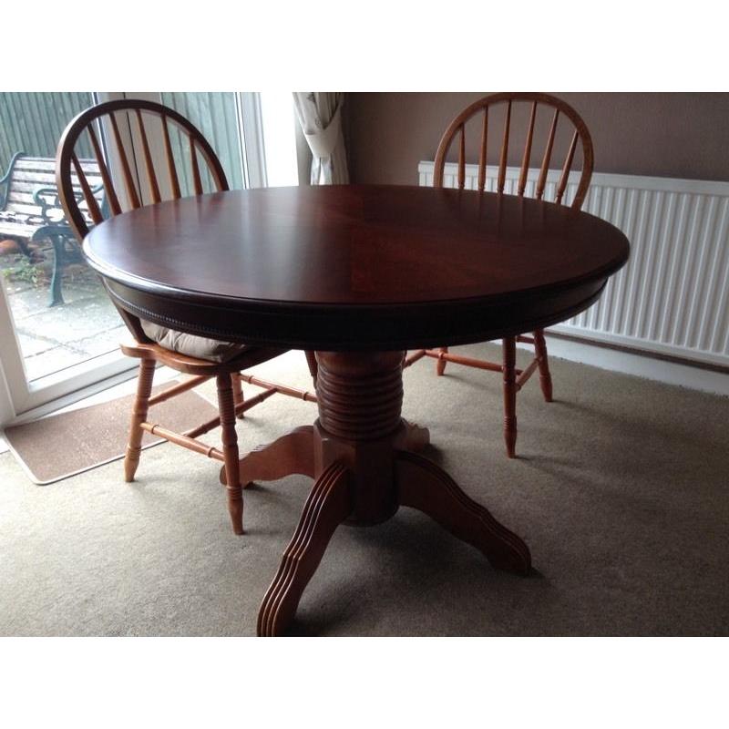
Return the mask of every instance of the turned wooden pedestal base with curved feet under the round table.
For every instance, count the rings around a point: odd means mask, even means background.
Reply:
[[[263,598],[259,635],[286,630],[339,524],[378,524],[401,506],[423,511],[493,567],[529,572],[526,544],[414,452],[428,435],[400,416],[404,355],[316,353],[319,419],[241,458],[243,484],[293,473],[316,479]]]

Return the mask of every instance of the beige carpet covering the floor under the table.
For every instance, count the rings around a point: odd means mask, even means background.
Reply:
[[[526,539],[535,575],[491,570],[403,508],[382,526],[336,531],[293,634],[729,633],[729,400],[552,368],[556,402],[536,382],[519,395],[513,461],[498,376],[453,366],[436,379],[431,362],[406,373],[404,413],[430,427],[429,455]],[[257,370],[308,379],[298,353]],[[242,446],[314,412],[274,397],[241,422]],[[124,484],[112,463],[37,488],[0,456],[0,634],[254,633],[311,481],[249,489],[239,538],[216,464],[168,444],[143,454],[138,477]]]

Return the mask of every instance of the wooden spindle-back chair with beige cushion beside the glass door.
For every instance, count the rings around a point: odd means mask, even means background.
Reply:
[[[102,124],[107,129],[108,154],[102,151]],[[128,141],[127,144],[124,143],[123,133],[128,135],[127,139],[137,136],[146,173],[140,172],[139,177],[146,183],[145,187],[132,173]],[[75,151],[79,139],[87,139],[93,149],[103,180],[103,192],[91,189],[87,171]],[[165,152],[164,175],[158,175],[158,170],[155,169],[150,139],[161,139]],[[109,159],[118,164],[119,176],[123,180],[123,187],[120,185],[119,189],[112,181]],[[84,239],[90,225],[103,221],[99,205],[100,195],[106,195],[108,213],[114,216],[125,208],[139,208],[144,204],[143,200],[157,203],[167,197],[180,199],[184,180],[190,182],[195,195],[202,194],[206,188],[228,190],[221,162],[200,131],[173,109],[149,101],[123,99],[88,108],[70,122],[58,144],[56,183],[68,223],[78,241]],[[132,408],[129,441],[124,458],[126,480],[134,479],[145,431],[222,461],[233,530],[236,534],[242,534],[243,498],[235,431],[236,416],[241,417],[245,410],[277,392],[313,401],[315,396],[291,387],[264,383],[252,375],[240,375],[241,370],[261,364],[285,350],[218,342],[176,332],[121,309],[119,313],[135,339],[133,344],[122,344],[121,349],[124,354],[139,358],[137,397]],[[192,376],[180,385],[151,396],[152,380],[158,363]],[[211,377],[216,378],[218,385],[218,417],[184,434],[172,432],[148,421],[150,406],[180,395]],[[246,401],[243,399],[241,378],[266,389]],[[222,429],[221,448],[210,447],[197,439],[219,425]]]

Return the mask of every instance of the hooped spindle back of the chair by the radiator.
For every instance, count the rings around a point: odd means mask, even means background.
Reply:
[[[575,197],[572,200],[571,207],[575,210],[580,210],[582,203],[587,195],[587,190],[590,187],[590,179],[592,177],[592,167],[594,164],[594,155],[592,151],[592,139],[590,138],[590,131],[587,125],[575,111],[574,108],[570,107],[565,101],[560,98],[551,96],[550,94],[541,93],[529,93],[529,92],[515,92],[515,93],[498,93],[490,94],[487,97],[480,98],[465,108],[456,118],[450,123],[446,129],[443,137],[438,144],[436,151],[436,161],[434,170],[434,187],[443,187],[444,169],[446,166],[446,157],[454,139],[459,138],[458,146],[458,173],[457,173],[457,187],[463,190],[466,186],[466,124],[467,121],[477,115],[477,113],[483,113],[483,121],[481,126],[481,144],[478,158],[478,180],[477,190],[483,191],[486,186],[486,169],[487,169],[487,156],[488,156],[488,139],[489,134],[492,134],[493,130],[488,128],[488,109],[497,105],[506,105],[506,112],[504,118],[504,128],[500,134],[501,146],[499,151],[498,159],[498,180],[497,180],[497,191],[503,193],[505,180],[506,180],[506,169],[508,164],[508,148],[509,148],[509,133],[511,126],[511,111],[512,103],[515,101],[530,102],[531,110],[529,115],[529,128],[527,131],[526,142],[524,145],[524,153],[522,156],[520,171],[519,171],[519,184],[518,184],[518,195],[519,197],[524,195],[524,190],[527,185],[527,175],[529,173],[529,164],[532,155],[532,145],[534,142],[534,128],[535,121],[538,114],[539,107],[546,107],[553,109],[553,115],[549,126],[549,136],[546,140],[545,149],[541,159],[541,167],[539,169],[539,180],[535,185],[535,197],[541,200],[544,195],[546,187],[547,173],[549,171],[549,163],[552,159],[552,151],[554,147],[554,140],[559,126],[560,118],[567,118],[571,122],[571,127],[574,128],[570,139],[570,147],[566,153],[564,164],[560,175],[560,181],[557,184],[555,190],[555,202],[558,204],[562,203],[565,190],[567,189],[567,182],[570,176],[570,169],[575,156],[577,145],[581,143],[582,149],[582,170],[580,183],[578,184]]]

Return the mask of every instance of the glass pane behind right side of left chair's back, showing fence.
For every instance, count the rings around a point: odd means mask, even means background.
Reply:
[[[241,142],[238,133],[238,112],[235,94],[232,92],[162,92],[162,104],[174,108],[189,118],[200,129],[202,136],[210,142],[218,159],[221,160],[231,190],[243,188],[243,165]],[[179,137],[170,135],[173,142],[175,161],[180,170],[180,190],[183,195],[192,195],[192,180],[189,153],[183,149]],[[204,182],[204,180],[203,180]],[[205,190],[210,188],[206,185]]]

